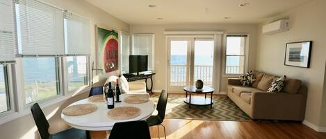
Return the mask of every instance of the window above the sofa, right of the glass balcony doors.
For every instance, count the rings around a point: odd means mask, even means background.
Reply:
[[[225,74],[245,72],[245,48],[247,35],[227,35]]]

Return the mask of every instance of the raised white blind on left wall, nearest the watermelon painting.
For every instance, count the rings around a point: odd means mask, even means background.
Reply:
[[[65,54],[90,55],[90,21],[65,12]]]

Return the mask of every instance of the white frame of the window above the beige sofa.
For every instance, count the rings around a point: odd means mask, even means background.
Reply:
[[[247,35],[245,38],[245,51],[244,55],[227,55],[227,35]],[[250,49],[250,34],[248,33],[227,33],[223,35],[223,41],[222,41],[222,77],[239,77],[242,74],[228,74],[226,73],[226,66],[227,66],[227,56],[244,56],[244,67],[243,67],[243,73],[247,73],[248,69],[248,55],[249,55],[249,49]]]

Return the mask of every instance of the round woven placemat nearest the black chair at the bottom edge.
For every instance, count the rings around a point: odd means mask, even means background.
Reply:
[[[136,118],[140,115],[141,110],[133,106],[120,106],[108,111],[108,118],[116,120],[126,120]]]

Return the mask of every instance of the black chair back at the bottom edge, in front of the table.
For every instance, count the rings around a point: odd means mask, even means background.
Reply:
[[[150,139],[151,134],[144,120],[117,122],[113,125],[108,139]]]

